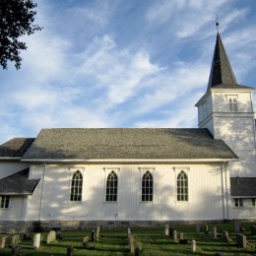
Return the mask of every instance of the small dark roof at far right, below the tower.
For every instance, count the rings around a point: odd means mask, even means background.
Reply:
[[[232,197],[256,197],[256,177],[231,177]]]

